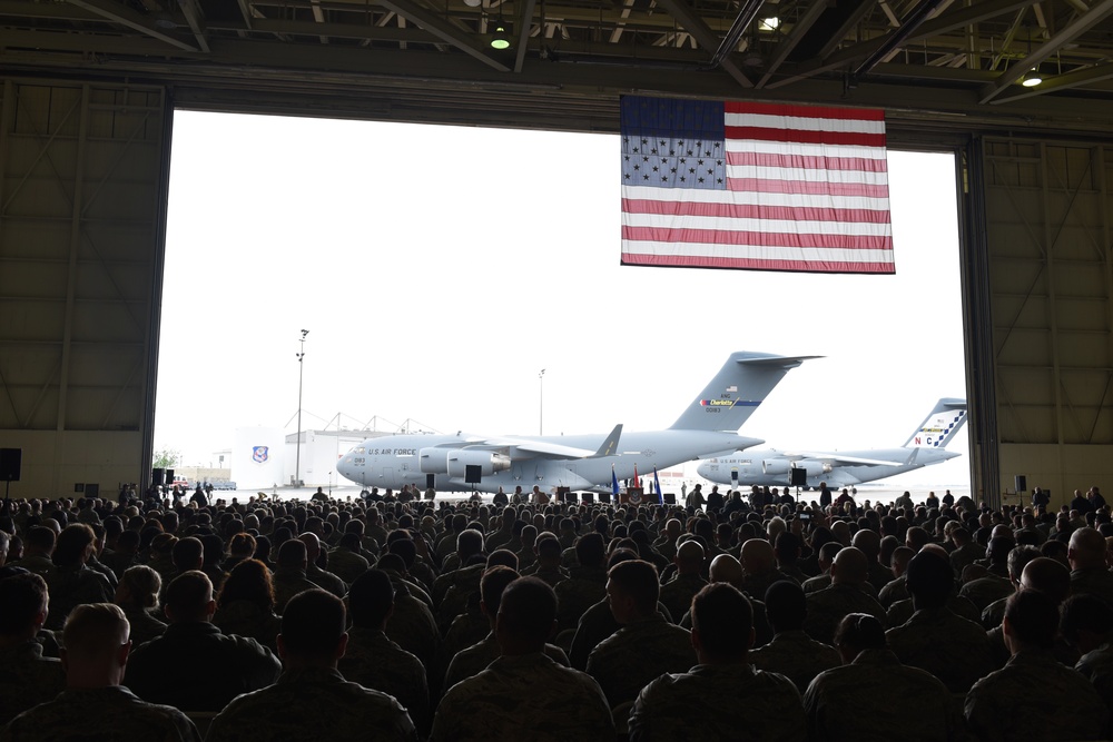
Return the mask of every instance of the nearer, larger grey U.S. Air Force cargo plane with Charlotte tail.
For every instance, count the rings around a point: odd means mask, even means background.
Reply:
[[[791,368],[816,356],[733,353],[667,431],[572,436],[394,435],[368,438],[336,465],[364,487],[529,493],[604,488],[613,477],[646,475],[681,462],[762,443],[738,435],[742,423]]]

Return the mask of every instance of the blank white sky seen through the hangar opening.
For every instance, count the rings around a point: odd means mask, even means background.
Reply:
[[[742,427],[769,446],[898,446],[965,396],[952,155],[888,154],[895,276],[816,276],[620,266],[619,152],[178,111],[156,449],[206,466],[237,427],[293,433],[303,328],[306,428],[536,434],[544,368],[545,434],[657,429],[735,350],[825,356]],[[968,461],[895,482],[968,486]]]

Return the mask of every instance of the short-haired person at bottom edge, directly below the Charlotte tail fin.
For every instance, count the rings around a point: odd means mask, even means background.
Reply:
[[[691,614],[699,664],[641,690],[630,712],[631,742],[804,740],[796,686],[748,662],[754,614],[742,592],[727,583],[708,585],[692,598]]]

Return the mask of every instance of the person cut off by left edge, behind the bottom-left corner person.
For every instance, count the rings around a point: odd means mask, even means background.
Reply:
[[[42,656],[36,641],[49,602],[47,582],[35,573],[0,580],[0,725],[66,686],[61,663]]]

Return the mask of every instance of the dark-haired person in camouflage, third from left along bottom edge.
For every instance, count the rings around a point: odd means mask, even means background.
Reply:
[[[449,690],[430,741],[613,742],[610,709],[595,681],[542,652],[555,619],[549,585],[536,577],[512,582],[495,619],[502,656]]]

